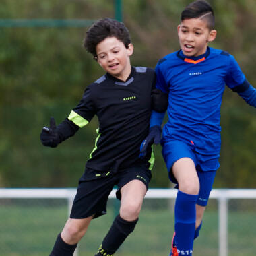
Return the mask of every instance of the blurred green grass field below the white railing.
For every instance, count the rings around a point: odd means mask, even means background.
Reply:
[[[213,201],[213,200],[211,200]],[[195,256],[218,255],[218,210],[212,203],[205,212],[203,228],[195,241]],[[167,199],[147,199],[135,231],[116,253],[118,256],[168,256],[174,216]],[[79,243],[79,256],[93,256],[118,212],[110,199],[108,214],[93,220]],[[256,214],[230,210],[229,256],[255,256]],[[0,256],[47,256],[67,219],[65,200],[0,200]],[[245,246],[247,245],[247,246]]]

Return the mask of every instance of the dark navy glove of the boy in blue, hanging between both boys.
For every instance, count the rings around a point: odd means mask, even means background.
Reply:
[[[141,143],[139,158],[143,158],[146,155],[148,148],[150,148],[153,143],[160,143],[161,133],[162,129],[158,125],[154,125],[150,128],[148,136]]]

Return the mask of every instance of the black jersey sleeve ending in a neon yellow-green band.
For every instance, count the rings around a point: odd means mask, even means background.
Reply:
[[[95,109],[92,101],[92,90],[90,89],[90,86],[88,86],[84,92],[82,100],[80,100],[79,104],[73,108],[67,119],[82,128],[92,120],[94,115]]]

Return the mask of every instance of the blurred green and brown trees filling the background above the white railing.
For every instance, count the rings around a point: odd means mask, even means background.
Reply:
[[[133,65],[154,67],[179,49],[177,24],[189,0],[123,1]],[[93,19],[114,17],[114,1],[2,0],[1,18]],[[236,57],[256,85],[256,3],[212,0],[218,36],[211,46]],[[87,28],[0,28],[0,185],[75,187],[94,148],[97,119],[58,148],[40,144],[49,117],[61,122],[88,84],[104,72],[82,47]],[[255,187],[255,109],[230,90],[222,106],[222,151],[215,187]],[[161,147],[151,187],[168,187]]]

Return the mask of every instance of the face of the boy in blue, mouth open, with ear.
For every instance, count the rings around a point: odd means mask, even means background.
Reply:
[[[185,19],[178,26],[179,43],[183,54],[197,57],[205,53],[208,42],[216,38],[216,30],[209,30],[204,19]]]

